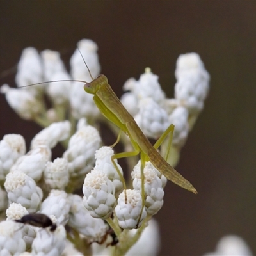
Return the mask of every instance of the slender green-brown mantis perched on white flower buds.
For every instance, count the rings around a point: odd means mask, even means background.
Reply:
[[[159,170],[168,180],[178,186],[188,189],[189,191],[197,194],[196,189],[192,184],[186,180],[179,172],[177,172],[170,164],[168,164],[164,158],[157,152],[157,148],[167,136],[169,132],[174,129],[173,125],[170,125],[164,134],[159,138],[154,146],[148,141],[147,137],[143,134],[140,127],[136,124],[134,118],[124,108],[115,92],[113,92],[111,86],[108,84],[108,79],[104,75],[99,75],[90,83],[84,84],[84,90],[87,93],[93,94],[93,100],[100,112],[108,118],[109,121],[113,122],[121,131],[129,136],[131,144],[134,147],[132,152],[123,152],[115,154],[112,159],[118,159],[122,157],[131,157],[140,154],[141,158],[141,184],[143,183],[143,169],[146,161],[150,161],[153,166]],[[116,141],[118,143],[119,141]],[[116,144],[115,143],[115,144]],[[115,145],[114,144],[114,145]],[[116,166],[115,161],[113,164]],[[116,167],[116,170],[118,168]],[[143,188],[142,192],[143,192]]]

